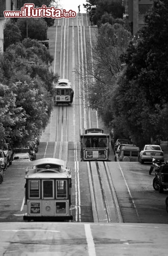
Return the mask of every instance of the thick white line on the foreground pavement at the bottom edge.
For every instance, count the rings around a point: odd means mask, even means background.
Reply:
[[[95,244],[94,244],[90,224],[85,224],[85,234],[87,238],[89,256],[96,256]]]

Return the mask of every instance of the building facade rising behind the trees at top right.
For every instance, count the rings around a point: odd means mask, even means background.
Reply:
[[[128,5],[128,19],[132,27],[132,34],[145,26],[145,15],[153,5],[153,0],[126,0]]]

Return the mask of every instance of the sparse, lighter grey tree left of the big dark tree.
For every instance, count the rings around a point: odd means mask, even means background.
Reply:
[[[122,71],[120,56],[130,39],[131,33],[122,25],[102,25],[92,38],[92,54],[88,43],[87,62],[81,65],[79,76],[85,84],[89,105],[99,111],[107,125],[114,118],[111,100]]]

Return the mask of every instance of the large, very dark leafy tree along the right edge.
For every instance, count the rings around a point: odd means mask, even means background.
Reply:
[[[126,67],[113,97],[116,125],[123,120],[122,126],[137,143],[150,142],[157,134],[165,136],[167,130],[167,13],[167,1],[154,1],[147,26],[128,47]]]

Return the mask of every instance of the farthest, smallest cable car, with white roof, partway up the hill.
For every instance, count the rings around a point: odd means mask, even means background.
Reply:
[[[54,104],[68,103],[73,101],[74,91],[71,87],[71,82],[68,79],[59,79],[58,83],[54,84]]]

